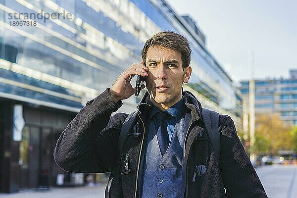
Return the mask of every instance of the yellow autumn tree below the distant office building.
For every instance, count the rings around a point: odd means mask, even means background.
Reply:
[[[285,125],[278,114],[256,116],[255,148],[258,154],[277,155],[278,150],[291,150],[296,146],[291,126]]]

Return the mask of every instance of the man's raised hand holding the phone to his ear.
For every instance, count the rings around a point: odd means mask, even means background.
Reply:
[[[115,83],[109,90],[111,98],[118,102],[122,99],[128,99],[135,94],[136,87],[132,87],[130,81],[135,75],[148,76],[148,67],[144,65],[144,61],[132,64],[126,71],[121,73]],[[141,89],[144,89],[145,85]]]

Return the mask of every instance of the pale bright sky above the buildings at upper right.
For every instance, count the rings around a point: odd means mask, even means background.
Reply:
[[[297,0],[166,0],[189,14],[206,37],[206,49],[236,82],[290,77],[297,69]]]

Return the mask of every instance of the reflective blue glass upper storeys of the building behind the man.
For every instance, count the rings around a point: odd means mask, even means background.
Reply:
[[[0,78],[6,79],[1,81],[1,97],[19,96],[78,111],[86,100],[110,87],[129,65],[140,62],[150,36],[172,30],[191,42],[189,86],[222,110],[236,109],[230,77],[164,2],[0,1]],[[35,25],[20,25],[21,21]],[[125,102],[137,101],[131,97]]]

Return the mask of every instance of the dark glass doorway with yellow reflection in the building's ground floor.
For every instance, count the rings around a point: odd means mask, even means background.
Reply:
[[[52,143],[50,128],[24,127],[20,142],[20,188],[37,188],[41,182],[43,185],[50,183]]]

